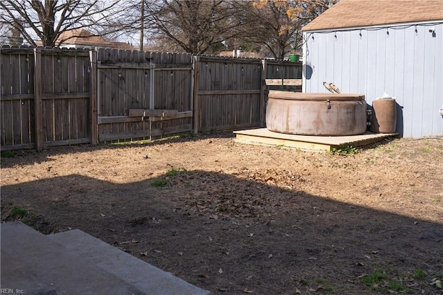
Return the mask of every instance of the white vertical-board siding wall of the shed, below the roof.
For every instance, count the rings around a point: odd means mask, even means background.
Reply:
[[[371,105],[386,91],[397,97],[397,132],[443,135],[442,24],[304,34],[304,92],[327,92],[323,82],[334,82]]]

